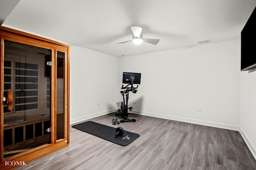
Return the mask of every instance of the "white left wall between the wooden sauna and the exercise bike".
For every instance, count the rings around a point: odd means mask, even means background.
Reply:
[[[118,60],[70,45],[70,124],[116,111]]]

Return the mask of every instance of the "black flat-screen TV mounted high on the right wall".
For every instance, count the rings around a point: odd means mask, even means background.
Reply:
[[[241,71],[256,67],[256,7],[241,31]]]

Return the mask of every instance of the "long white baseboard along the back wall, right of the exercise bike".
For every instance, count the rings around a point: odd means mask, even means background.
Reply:
[[[156,114],[156,113],[147,113],[147,112],[141,112],[141,111],[131,111],[130,113],[135,113],[135,114],[145,115],[145,116],[151,116],[151,117],[158,117],[158,118],[162,118],[162,119],[182,121],[182,122],[187,122],[187,123],[194,123],[194,124],[197,124],[197,125],[218,127],[218,128],[228,129],[228,130],[233,130],[233,131],[239,131],[239,129],[240,129],[238,126],[234,126],[234,125],[226,125],[226,124],[222,124],[222,123],[214,123],[214,122],[201,121],[201,120],[195,120],[195,119],[187,119],[187,118],[182,118],[182,117],[160,115],[160,114]]]

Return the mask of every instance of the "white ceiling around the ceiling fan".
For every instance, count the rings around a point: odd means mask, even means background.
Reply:
[[[256,0],[0,0],[3,26],[122,57],[240,38]],[[9,10],[10,11],[10,10]],[[132,42],[142,27],[157,45]]]

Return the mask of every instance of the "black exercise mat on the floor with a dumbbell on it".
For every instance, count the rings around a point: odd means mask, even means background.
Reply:
[[[73,125],[72,127],[122,146],[130,144],[132,141],[140,137],[139,134],[128,131],[124,131],[122,136],[116,136],[116,128],[93,121],[86,121],[84,123]]]

